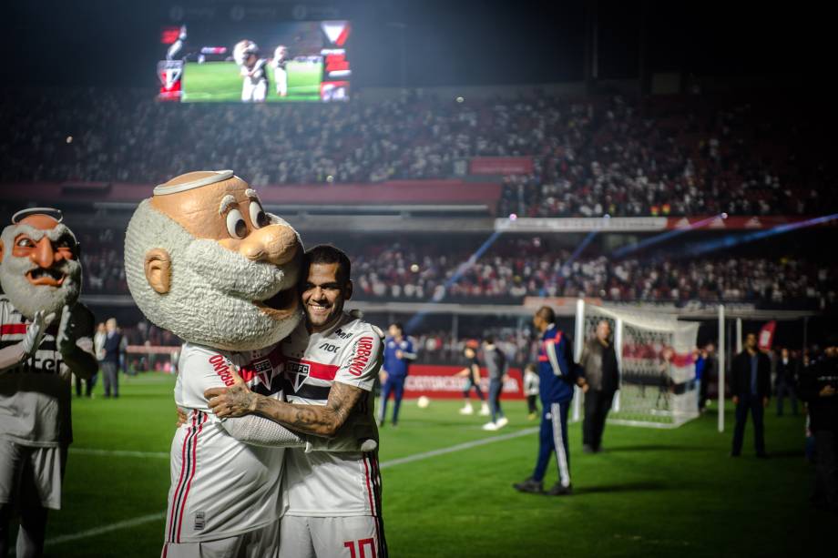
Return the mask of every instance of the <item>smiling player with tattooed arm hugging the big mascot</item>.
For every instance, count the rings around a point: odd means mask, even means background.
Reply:
[[[383,332],[343,311],[352,297],[351,263],[332,246],[306,252],[302,304],[306,320],[281,342],[286,396],[278,401],[237,384],[206,396],[218,416],[259,414],[318,436],[356,432],[373,438],[373,382]],[[377,443],[375,444],[377,446]],[[363,447],[363,446],[362,446]],[[286,452],[280,558],[386,558],[377,451]]]

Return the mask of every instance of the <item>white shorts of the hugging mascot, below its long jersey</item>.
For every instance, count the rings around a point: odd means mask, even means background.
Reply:
[[[260,529],[202,543],[164,543],[161,558],[277,558],[280,520]]]

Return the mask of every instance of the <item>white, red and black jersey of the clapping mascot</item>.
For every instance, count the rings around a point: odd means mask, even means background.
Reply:
[[[92,314],[89,321],[93,322]],[[28,323],[9,299],[0,295],[0,347],[21,342]],[[54,322],[46,330],[33,358],[0,374],[0,438],[37,447],[56,447],[73,441],[72,374],[56,347],[57,328]],[[92,346],[93,340],[80,338],[78,344],[82,343]]]

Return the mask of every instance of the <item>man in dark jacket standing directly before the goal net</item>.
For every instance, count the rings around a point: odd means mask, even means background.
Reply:
[[[588,381],[585,421],[582,423],[582,450],[592,453],[600,450],[611,401],[619,387],[617,353],[611,342],[611,325],[608,320],[601,320],[597,324],[597,335],[585,343],[579,365],[585,369],[585,380]]]

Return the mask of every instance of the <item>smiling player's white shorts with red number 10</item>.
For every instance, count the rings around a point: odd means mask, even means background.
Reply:
[[[280,558],[387,558],[381,518],[372,515],[286,515],[280,533]]]

